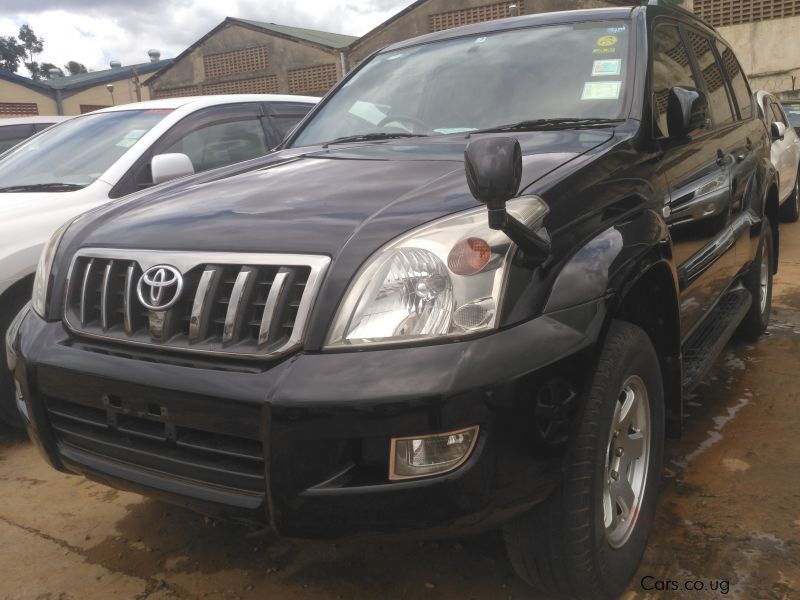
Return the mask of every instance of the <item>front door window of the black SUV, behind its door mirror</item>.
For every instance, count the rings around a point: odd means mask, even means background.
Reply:
[[[678,27],[658,25],[653,34],[652,63],[653,113],[658,131],[656,135],[667,136],[667,99],[669,90],[675,86],[697,88],[692,72],[689,53],[683,44]]]

